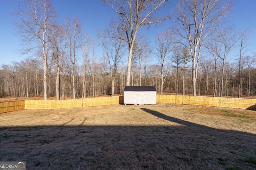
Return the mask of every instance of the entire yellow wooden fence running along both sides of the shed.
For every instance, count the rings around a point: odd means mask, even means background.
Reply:
[[[157,103],[205,105],[256,110],[256,100],[238,98],[214,98],[204,96],[156,95]],[[21,100],[0,102],[0,113],[22,109],[61,109],[72,107],[103,106],[124,103],[124,96],[86,98],[74,100]]]

